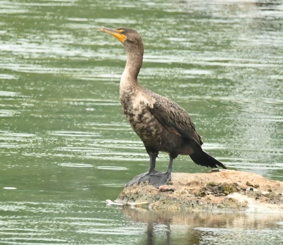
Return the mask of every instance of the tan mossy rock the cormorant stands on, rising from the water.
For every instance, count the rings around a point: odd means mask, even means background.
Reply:
[[[253,191],[247,186],[253,186]],[[170,187],[165,185],[160,190],[148,182],[134,184],[125,187],[116,201],[121,204],[147,202],[148,209],[160,210],[283,213],[282,193],[283,182],[249,172],[223,170],[172,173]]]

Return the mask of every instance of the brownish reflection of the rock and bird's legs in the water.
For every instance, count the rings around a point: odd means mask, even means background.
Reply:
[[[136,244],[274,244],[283,241],[282,214],[265,215],[255,213],[205,213],[169,212],[123,207],[130,220],[146,223],[147,239]],[[272,229],[278,232],[273,233]],[[239,235],[241,234],[241,235]],[[243,235],[244,234],[244,235]],[[256,235],[260,234],[260,236]],[[255,236],[255,237],[254,237]],[[253,238],[254,237],[254,238]]]

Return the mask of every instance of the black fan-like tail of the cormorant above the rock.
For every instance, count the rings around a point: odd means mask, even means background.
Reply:
[[[195,151],[192,155],[190,155],[191,159],[194,163],[205,166],[205,167],[211,167],[211,168],[218,168],[218,166],[227,169],[227,167],[216,160],[214,157],[210,156],[208,153],[203,151],[202,149],[198,149]]]

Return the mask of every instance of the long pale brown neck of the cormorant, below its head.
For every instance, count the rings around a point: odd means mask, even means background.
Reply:
[[[138,87],[138,73],[143,59],[143,46],[139,48],[127,47],[127,62],[120,81],[120,94]]]

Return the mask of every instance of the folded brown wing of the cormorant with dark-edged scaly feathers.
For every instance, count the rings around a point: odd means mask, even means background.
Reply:
[[[169,131],[188,140],[197,141],[199,145],[203,144],[189,114],[182,107],[164,96],[152,93],[152,97],[155,103],[149,110]]]

